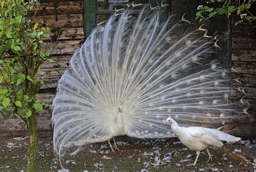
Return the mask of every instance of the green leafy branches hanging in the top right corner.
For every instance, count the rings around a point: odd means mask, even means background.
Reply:
[[[245,20],[247,20],[248,22],[252,22],[256,19],[256,17],[254,17],[248,9],[251,8],[253,2],[254,1],[251,0],[210,0],[206,2],[207,4],[209,4],[209,6],[198,6],[196,19],[199,19],[199,21],[201,22],[202,20],[212,18],[215,15],[230,16],[232,13],[236,12],[241,19],[237,23],[235,23],[235,25],[238,25]],[[217,7],[212,7],[213,5]]]

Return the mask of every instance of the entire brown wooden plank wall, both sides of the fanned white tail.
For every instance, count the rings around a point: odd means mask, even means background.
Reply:
[[[57,81],[68,67],[73,52],[79,49],[84,39],[83,33],[83,0],[41,0],[41,7],[34,22],[51,27],[51,39],[48,41],[48,51],[52,53],[55,63],[45,63],[39,72],[39,77],[45,80],[46,87],[38,94],[39,99],[49,104],[44,112],[38,114],[38,129],[43,135],[52,134],[51,104],[55,97]],[[245,137],[255,137],[256,116],[256,32],[254,24],[233,26],[232,65],[238,73],[232,76],[240,77],[247,86],[247,100],[251,102],[250,118],[235,123],[234,133]],[[24,122],[0,116],[0,137],[26,134]]]

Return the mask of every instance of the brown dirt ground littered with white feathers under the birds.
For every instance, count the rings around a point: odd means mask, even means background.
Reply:
[[[187,149],[177,138],[138,142],[118,142],[120,152],[110,152],[108,145],[98,143],[76,156],[66,155],[61,170],[55,159],[51,137],[39,137],[35,171],[253,171],[256,170],[256,140],[242,140],[222,149],[210,149],[213,161],[201,152],[196,166],[196,153]],[[24,169],[28,137],[1,138],[0,171]]]

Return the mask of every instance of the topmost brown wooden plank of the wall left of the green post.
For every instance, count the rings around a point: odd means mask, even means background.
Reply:
[[[82,1],[41,2],[36,16],[83,13]]]

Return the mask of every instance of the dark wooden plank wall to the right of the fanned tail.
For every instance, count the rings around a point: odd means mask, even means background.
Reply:
[[[233,24],[237,19],[233,19]],[[232,26],[232,72],[233,78],[240,78],[246,87],[245,100],[250,102],[250,116],[237,122],[237,133],[244,137],[256,137],[256,22]]]

